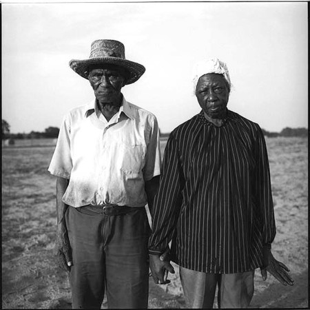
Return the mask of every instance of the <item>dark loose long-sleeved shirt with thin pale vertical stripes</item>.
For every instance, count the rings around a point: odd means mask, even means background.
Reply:
[[[203,111],[170,134],[153,207],[149,254],[169,242],[176,264],[206,273],[262,266],[276,235],[267,148],[259,125],[227,110],[222,127]]]

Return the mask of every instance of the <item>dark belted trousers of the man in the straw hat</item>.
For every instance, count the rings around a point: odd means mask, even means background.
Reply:
[[[149,223],[145,208],[105,215],[102,207],[68,207],[72,308],[147,308]]]

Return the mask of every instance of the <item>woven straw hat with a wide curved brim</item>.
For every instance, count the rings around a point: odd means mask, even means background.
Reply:
[[[88,79],[89,66],[95,64],[113,64],[125,68],[130,76],[125,84],[136,82],[145,72],[143,65],[125,59],[125,47],[123,43],[115,40],[96,40],[92,42],[90,58],[85,60],[72,59],[70,68],[84,79]]]

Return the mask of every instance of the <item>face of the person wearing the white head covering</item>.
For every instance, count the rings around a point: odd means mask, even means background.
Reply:
[[[229,88],[222,74],[200,76],[195,94],[205,114],[211,118],[221,118],[229,98]]]

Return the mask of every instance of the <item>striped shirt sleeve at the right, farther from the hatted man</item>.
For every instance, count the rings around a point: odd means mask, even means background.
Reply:
[[[269,161],[264,134],[260,127],[256,133],[256,204],[262,220],[262,245],[270,247],[276,236],[276,222],[273,211]]]

